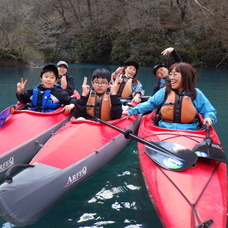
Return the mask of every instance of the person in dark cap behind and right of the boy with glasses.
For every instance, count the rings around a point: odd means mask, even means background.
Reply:
[[[137,80],[136,75],[139,64],[135,61],[124,63],[124,67],[118,67],[112,74],[112,80],[118,80],[118,95],[120,97],[132,97],[132,102],[141,102],[144,95],[142,84]]]

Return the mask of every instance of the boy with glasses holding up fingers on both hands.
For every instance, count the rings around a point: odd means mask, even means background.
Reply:
[[[82,95],[76,102],[74,117],[87,117],[87,114],[104,121],[119,119],[122,115],[122,103],[117,95],[118,82],[110,83],[111,73],[98,68],[92,74],[92,88],[84,77]]]

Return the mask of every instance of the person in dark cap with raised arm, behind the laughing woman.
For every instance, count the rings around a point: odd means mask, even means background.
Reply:
[[[162,55],[170,55],[172,54],[175,62],[182,62],[182,58],[180,55],[174,50],[173,47],[166,48],[161,52]],[[168,82],[169,70],[164,64],[157,64],[153,68],[153,73],[155,77],[158,79],[158,82],[155,84],[153,89],[153,94],[155,94],[160,88],[164,87]]]

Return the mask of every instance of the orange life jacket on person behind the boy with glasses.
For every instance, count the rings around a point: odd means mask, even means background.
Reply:
[[[132,94],[132,80],[133,78],[126,77],[125,75],[120,75],[121,82],[118,84],[117,95],[119,97],[130,97]]]

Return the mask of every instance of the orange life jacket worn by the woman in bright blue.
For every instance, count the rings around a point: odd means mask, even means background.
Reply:
[[[170,123],[191,123],[197,117],[197,110],[191,96],[171,91],[160,109],[160,116]]]

